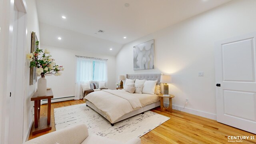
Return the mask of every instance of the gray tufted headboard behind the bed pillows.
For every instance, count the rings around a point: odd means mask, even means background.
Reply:
[[[128,79],[139,79],[139,80],[157,80],[156,84],[160,84],[161,74],[126,74]]]

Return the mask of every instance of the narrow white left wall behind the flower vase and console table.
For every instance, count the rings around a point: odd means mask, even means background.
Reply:
[[[26,53],[30,53],[31,48],[31,33],[36,32],[38,40],[40,40],[39,33],[39,22],[36,8],[36,0],[26,0],[27,4],[27,30],[26,35]],[[31,109],[34,110],[34,103],[30,101],[31,96],[34,94],[37,83],[34,85],[29,85],[30,68],[29,62],[25,63],[25,74],[26,74],[26,86],[25,86],[25,98],[24,98],[24,131],[23,140],[26,140],[27,134],[30,131],[32,122],[34,121],[34,116],[31,114]]]

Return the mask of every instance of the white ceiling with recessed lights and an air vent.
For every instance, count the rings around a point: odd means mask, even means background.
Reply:
[[[36,0],[40,43],[116,55],[128,42],[229,1]],[[130,6],[124,6],[126,3]],[[98,30],[105,32],[99,33]]]

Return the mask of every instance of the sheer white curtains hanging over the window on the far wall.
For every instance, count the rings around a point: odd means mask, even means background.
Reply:
[[[107,81],[106,61],[77,57],[75,100],[83,98],[81,84],[90,81]]]

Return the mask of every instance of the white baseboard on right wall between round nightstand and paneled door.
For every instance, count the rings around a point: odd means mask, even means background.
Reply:
[[[169,104],[164,103],[164,105],[168,106]],[[203,111],[200,111],[200,110],[194,110],[194,109],[186,108],[186,107],[184,108],[183,106],[177,106],[177,105],[172,105],[172,108],[175,109],[175,110],[180,110],[182,112],[187,112],[187,113],[194,114],[194,115],[197,115],[197,116],[202,116],[204,118],[210,118],[212,120],[217,120],[216,114],[211,114],[209,112],[203,112]]]

